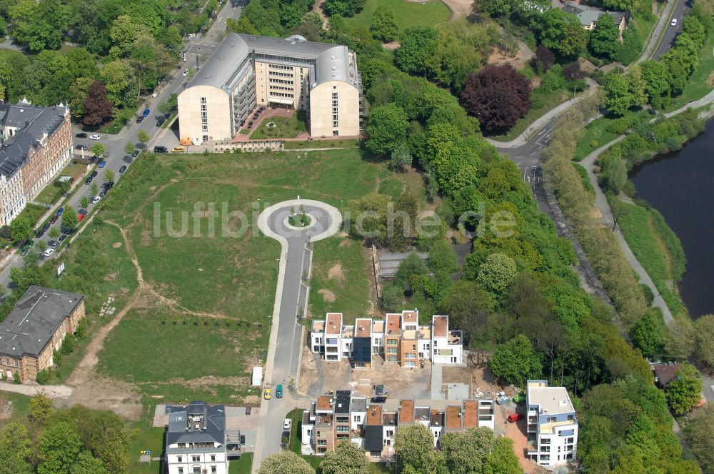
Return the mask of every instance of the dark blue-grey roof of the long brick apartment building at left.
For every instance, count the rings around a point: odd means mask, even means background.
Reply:
[[[51,136],[62,125],[66,110],[64,106],[36,107],[22,102],[9,106],[4,124],[20,129],[0,148],[0,173],[7,177],[16,173],[44,133]]]

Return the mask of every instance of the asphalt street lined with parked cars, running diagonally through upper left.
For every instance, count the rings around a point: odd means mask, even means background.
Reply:
[[[203,56],[210,56],[210,54],[213,52],[213,49],[215,49],[215,44],[216,41],[221,37],[221,34],[226,29],[226,19],[228,18],[237,18],[241,14],[241,7],[236,7],[232,6],[230,2],[227,2],[225,6],[223,6],[223,9],[221,9],[221,12],[218,14],[218,17],[216,18],[216,21],[213,23],[213,26],[211,29],[208,31],[208,34],[206,34],[205,37],[200,37],[197,36],[196,38],[193,39],[188,39],[185,43],[185,49],[186,51],[189,51],[187,54],[186,58],[186,64],[181,62],[180,64],[177,65],[177,69],[173,71],[171,74],[173,76],[168,76],[164,81],[162,81],[161,84],[159,84],[159,87],[157,88],[157,96],[153,97],[150,96],[149,99],[146,101],[146,104],[142,106],[139,109],[139,113],[144,110],[144,108],[148,107],[151,109],[151,114],[149,114],[146,119],[142,123],[136,123],[135,121],[130,121],[127,123],[127,125],[116,135],[111,135],[107,133],[100,133],[99,135],[101,136],[101,140],[99,143],[104,144],[106,147],[107,153],[109,153],[109,157],[106,158],[106,166],[104,168],[96,168],[96,171],[98,172],[98,175],[96,178],[94,178],[94,183],[97,183],[97,185],[101,189],[101,184],[104,181],[104,176],[106,175],[106,171],[110,170],[114,171],[114,181],[119,181],[122,174],[119,173],[119,168],[121,166],[126,165],[126,166],[131,166],[131,164],[126,160],[126,152],[124,151],[124,148],[126,146],[126,143],[138,143],[139,140],[137,140],[136,136],[139,134],[140,130],[146,131],[146,133],[149,133],[149,136],[151,136],[151,140],[149,141],[149,147],[153,146],[154,144],[154,138],[159,135],[161,131],[166,131],[166,129],[157,127],[156,126],[156,116],[159,114],[159,111],[157,110],[157,107],[159,104],[162,102],[166,101],[166,99],[169,99],[169,96],[171,94],[174,94],[175,92],[178,93],[180,89],[182,89],[183,84],[186,82],[186,77],[183,77],[181,72],[183,69],[186,67],[191,66],[191,62],[195,61],[196,54],[191,52],[193,50],[196,51],[201,51],[203,53],[203,49],[205,49],[205,53]],[[198,48],[201,48],[200,50]],[[74,143],[72,144],[73,148],[76,145],[86,145],[88,148],[91,148],[91,146],[94,145],[94,143],[97,143],[97,141],[94,140],[89,140],[88,138],[76,138],[76,133],[79,133],[81,130],[81,127],[77,124],[73,124],[72,126],[72,134],[74,136],[73,140]],[[91,135],[93,132],[88,131],[86,132],[88,135]],[[76,152],[79,152],[75,150]],[[89,154],[89,152],[86,152]],[[74,193],[73,196],[69,199],[67,203],[65,203],[63,206],[71,206],[75,210],[79,212],[79,209],[81,209],[81,206],[79,206],[79,201],[81,200],[82,196],[89,196],[90,190],[91,190],[91,185],[86,185],[84,184],[84,179],[79,181],[79,186],[80,189]],[[111,191],[109,191],[111,193]],[[89,196],[90,199],[93,196]],[[93,204],[90,204],[84,211],[86,212],[91,212],[94,208]],[[85,212],[85,213],[86,213]],[[60,226],[61,225],[61,218],[57,220],[56,223],[54,223],[54,226]],[[69,239],[69,238],[68,238]],[[38,239],[35,239],[38,240]],[[49,243],[51,240],[49,238],[49,230],[44,233],[44,236],[42,236],[39,240],[45,241],[45,243]],[[66,243],[64,243],[66,245]],[[56,258],[56,254],[49,258]],[[44,260],[44,259],[43,259]],[[43,263],[43,260],[40,261],[40,264]],[[10,270],[11,268],[19,267],[21,268],[24,266],[24,260],[23,258],[19,255],[19,253],[15,253],[14,256],[12,256],[9,261],[6,261],[4,266],[0,268],[0,285],[9,286],[10,283]]]

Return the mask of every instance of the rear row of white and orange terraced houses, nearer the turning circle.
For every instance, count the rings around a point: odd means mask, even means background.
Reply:
[[[348,359],[356,368],[371,368],[373,355],[402,367],[416,367],[419,360],[460,364],[463,360],[461,331],[450,331],[448,316],[434,315],[431,325],[419,326],[419,312],[389,313],[385,319],[358,318],[343,324],[342,313],[327,313],[313,321],[310,350],[327,361]]]

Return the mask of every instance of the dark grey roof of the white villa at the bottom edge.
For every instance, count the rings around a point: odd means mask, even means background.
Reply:
[[[188,429],[188,415],[203,414],[203,430]],[[166,447],[176,443],[218,443],[226,439],[226,407],[193,401],[188,406],[174,406],[169,413]]]

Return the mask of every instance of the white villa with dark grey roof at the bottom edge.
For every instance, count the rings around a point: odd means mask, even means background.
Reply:
[[[226,430],[226,407],[193,401],[169,405],[164,459],[167,474],[227,474],[240,457],[237,430]]]

